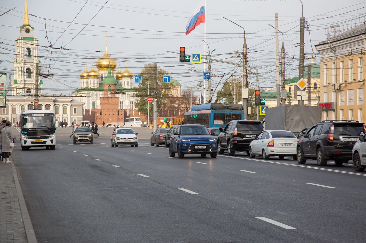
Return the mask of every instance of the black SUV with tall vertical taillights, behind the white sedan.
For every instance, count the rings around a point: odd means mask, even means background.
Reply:
[[[316,159],[325,166],[328,160],[336,165],[352,159],[353,145],[363,129],[363,123],[351,120],[321,121],[312,126],[297,145],[297,161],[304,164],[306,159]]]

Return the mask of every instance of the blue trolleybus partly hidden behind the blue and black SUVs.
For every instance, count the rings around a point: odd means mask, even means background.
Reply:
[[[184,113],[184,124],[203,124],[206,127],[225,127],[231,120],[244,120],[241,104],[200,104]]]

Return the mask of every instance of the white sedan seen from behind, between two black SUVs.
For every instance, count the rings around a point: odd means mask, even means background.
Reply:
[[[296,146],[298,139],[295,134],[285,130],[266,130],[261,132],[256,139],[249,144],[250,158],[255,155],[268,159],[270,156],[292,156],[296,160]]]

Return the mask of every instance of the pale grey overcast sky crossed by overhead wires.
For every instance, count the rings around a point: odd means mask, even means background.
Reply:
[[[0,16],[0,72],[14,77],[14,45],[23,25],[25,0],[0,3],[0,15],[16,7]],[[362,23],[366,9],[362,0],[206,0],[206,23],[186,35],[187,21],[200,3],[201,0],[27,0],[29,23],[38,38],[41,63],[45,64],[42,72],[52,74],[42,78],[43,92],[67,95],[79,88],[79,75],[85,64],[90,70],[104,54],[106,43],[108,53],[122,71],[128,63],[128,69],[138,75],[144,64],[156,62],[180,82],[182,90],[190,87],[191,78],[192,86],[199,88],[197,84],[204,82],[203,70],[206,68],[207,72],[207,65],[179,62],[179,54],[168,51],[179,52],[179,47],[184,46],[186,54],[204,55],[206,25],[206,51],[210,50],[211,57],[242,62],[240,55],[236,56],[243,50],[243,29],[223,17],[244,28],[249,65],[259,70],[259,88],[272,88],[276,86],[276,33],[268,24],[275,26],[276,12],[286,53],[285,77],[292,78],[299,74],[302,3],[308,27],[305,64],[312,55],[314,62],[319,63],[314,45],[325,40],[327,27],[361,17],[357,23]],[[279,42],[281,45],[281,34]],[[196,71],[188,70],[192,66]],[[211,88],[218,86],[218,92],[224,80],[240,77],[242,68],[212,62],[212,73]],[[249,82],[256,86],[254,74],[249,75]]]

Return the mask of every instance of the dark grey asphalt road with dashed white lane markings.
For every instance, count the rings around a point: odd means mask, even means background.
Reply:
[[[138,147],[111,147],[112,128],[76,145],[59,128],[56,150],[16,140],[38,242],[365,242],[366,173],[351,163],[170,158],[135,131]]]

